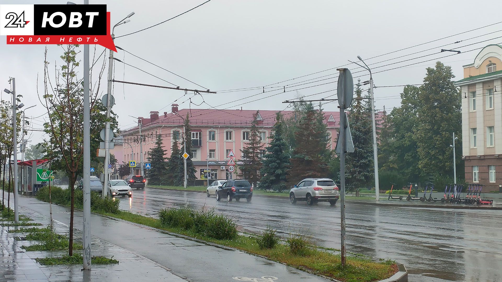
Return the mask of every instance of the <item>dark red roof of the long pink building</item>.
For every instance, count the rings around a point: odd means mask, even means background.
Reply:
[[[215,109],[180,109],[178,114],[186,117],[187,113],[190,118],[191,125],[226,125],[226,126],[250,126],[251,122],[255,118],[256,110],[215,110]],[[276,122],[276,113],[281,112],[284,117],[289,118],[293,116],[295,111],[276,111],[276,110],[260,110],[260,116],[262,117],[261,126],[273,126]],[[143,118],[143,127],[158,124],[158,125],[181,125],[183,124],[183,119],[178,115],[173,113],[168,113],[167,117],[163,114],[159,115],[159,119],[153,120],[150,118]],[[328,122],[329,117],[333,115],[334,122],[330,122],[328,125],[338,126],[339,124],[339,112],[324,112],[324,120]],[[130,131],[136,129],[138,126],[128,128],[124,130]]]

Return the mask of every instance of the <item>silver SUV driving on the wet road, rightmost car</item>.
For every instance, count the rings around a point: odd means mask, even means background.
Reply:
[[[329,178],[306,178],[289,192],[292,204],[306,201],[308,205],[313,205],[318,201],[324,201],[334,206],[339,196],[338,186]]]

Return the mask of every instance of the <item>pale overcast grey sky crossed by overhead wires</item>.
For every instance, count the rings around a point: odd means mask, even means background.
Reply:
[[[81,0],[74,0],[77,4]],[[93,1],[90,4],[107,4],[111,12],[111,25],[131,12],[136,14],[131,22],[115,29],[115,35],[131,33],[167,20],[179,13],[191,9],[204,0],[165,0],[132,1],[108,0]],[[66,1],[21,1],[3,0],[2,4],[65,4]],[[483,27],[499,22],[490,16],[490,11],[500,9],[500,1],[328,1],[328,0],[212,0],[179,18],[166,22],[149,30],[118,38],[115,44],[129,52],[152,61],[174,73],[184,76],[211,90],[260,87],[305,74],[335,68],[357,60],[378,56],[402,48],[425,43],[442,37]],[[396,58],[410,53],[433,48],[430,51],[390,60],[370,66],[374,68],[373,79],[376,86],[421,83],[426,67],[435,61],[419,63],[440,58],[453,53],[441,53],[414,59],[407,62],[378,68],[388,63],[417,58],[439,52],[441,49],[461,50],[462,53],[440,59],[453,67],[457,79],[462,78],[462,65],[471,63],[479,50],[467,52],[488,44],[501,43],[502,24],[479,29],[441,41],[422,45],[379,58],[369,59],[367,64]],[[499,31],[499,32],[496,32]],[[495,33],[492,33],[495,32]],[[481,36],[476,39],[469,38]],[[461,43],[450,44],[465,40]],[[485,41],[488,40],[488,41]],[[485,41],[485,42],[481,42]],[[17,92],[23,95],[22,101],[31,106],[38,106],[27,111],[27,116],[39,116],[44,108],[37,98],[37,74],[43,75],[43,45],[6,45],[6,37],[0,37],[0,88],[9,88],[9,76],[16,77]],[[464,45],[471,46],[459,48]],[[60,55],[56,46],[48,46],[50,60]],[[91,46],[91,50],[93,46]],[[97,46],[100,54],[103,47]],[[148,71],[176,85],[186,88],[201,87],[176,77],[162,69],[150,65],[129,54],[118,50],[115,56],[131,65]],[[465,53],[464,53],[465,52]],[[413,66],[376,73],[381,70],[417,63]],[[357,66],[350,65],[350,69]],[[353,70],[355,73],[360,69]],[[337,73],[336,69],[317,75],[279,83],[283,86],[298,81]],[[355,76],[366,74],[360,72]],[[115,63],[115,79],[147,84],[170,86],[166,82],[138,71],[129,66]],[[334,75],[319,79],[330,78]],[[367,80],[368,75],[361,77]],[[314,80],[319,80],[314,79]],[[300,95],[311,95],[336,88],[336,78],[326,79],[312,84],[290,87],[287,90],[303,88],[321,83],[326,85],[299,90]],[[106,81],[102,81],[103,93]],[[375,89],[376,108],[392,108],[400,105],[399,94],[403,87]],[[270,89],[268,89],[270,90]],[[205,101],[211,106],[233,101],[261,90],[208,94]],[[296,91],[282,93],[256,102],[237,105],[246,101],[263,98],[281,91],[264,93],[217,108],[267,109],[282,110],[286,107],[281,102],[294,98]],[[152,110],[170,111],[170,104],[184,94],[183,91],[150,88],[115,83],[113,110],[119,115],[122,128],[132,126],[136,120],[129,115],[145,116]],[[310,98],[323,98],[336,94],[331,91]],[[190,95],[190,93],[189,93]],[[191,96],[191,95],[190,95]],[[391,97],[389,97],[391,96]],[[177,103],[185,101],[185,96]],[[5,93],[2,98],[9,98]],[[196,104],[202,102],[200,96],[192,99]],[[188,108],[189,102],[180,105]],[[192,108],[207,108],[191,105]],[[336,103],[325,106],[326,110],[337,109]],[[35,128],[42,128],[43,116],[33,120]],[[41,132],[33,132],[31,144],[43,138]]]

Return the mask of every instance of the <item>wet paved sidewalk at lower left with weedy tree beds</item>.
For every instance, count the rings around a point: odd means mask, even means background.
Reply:
[[[20,213],[44,226],[50,223],[49,218],[26,207],[20,207]],[[38,242],[15,240],[14,237],[22,239],[27,234],[8,232],[16,227],[0,228],[0,255],[2,256],[0,281],[186,281],[150,259],[135,255],[97,237],[92,238],[92,255],[113,257],[119,261],[118,264],[95,264],[92,265],[90,271],[82,271],[82,265],[44,266],[36,262],[35,258],[61,256],[67,251],[25,251],[21,246]],[[68,226],[58,221],[54,222],[54,229],[59,234],[68,233]],[[74,238],[76,242],[81,242],[82,234],[77,230]],[[75,252],[81,252],[81,250],[75,250]]]

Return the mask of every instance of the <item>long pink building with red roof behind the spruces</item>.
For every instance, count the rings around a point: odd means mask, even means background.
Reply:
[[[273,126],[276,122],[275,110],[260,110],[258,128],[263,142],[263,153],[269,142],[269,137],[274,134]],[[294,111],[281,111],[286,118],[295,115]],[[175,114],[178,113],[178,114]],[[205,179],[204,172],[210,169],[210,179],[232,179],[235,172],[226,170],[227,155],[230,150],[235,154],[237,165],[242,158],[242,149],[248,138],[249,128],[257,114],[257,110],[214,110],[214,109],[178,109],[178,104],[173,104],[171,112],[164,112],[159,116],[158,111],[151,111],[150,117],[139,117],[142,122],[142,135],[147,136],[142,142],[143,162],[147,162],[150,149],[155,147],[158,134],[162,135],[164,149],[167,150],[166,158],[170,157],[172,142],[177,139],[181,142],[183,134],[183,119],[186,115],[190,118],[190,131],[192,152],[187,152],[197,170],[197,179]],[[339,112],[325,112],[324,122],[328,126],[331,137],[330,146],[336,146],[336,136],[339,127]],[[134,173],[139,173],[140,144],[132,140],[139,138],[139,127],[135,126],[121,132],[123,140],[127,143],[115,144],[112,154],[118,164],[128,164],[136,161],[138,167]],[[181,148],[181,147],[180,147]],[[236,166],[238,169],[238,166]]]

